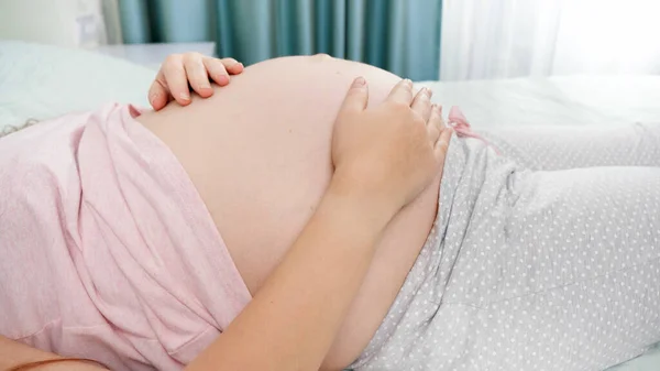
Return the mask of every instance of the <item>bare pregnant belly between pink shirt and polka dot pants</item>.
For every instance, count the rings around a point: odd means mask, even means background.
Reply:
[[[356,76],[370,103],[398,77],[327,56],[256,64],[189,107],[139,118],[179,159],[252,294],[314,214],[331,177],[332,124]],[[394,302],[436,216],[439,178],[388,226],[324,367],[355,359]]]

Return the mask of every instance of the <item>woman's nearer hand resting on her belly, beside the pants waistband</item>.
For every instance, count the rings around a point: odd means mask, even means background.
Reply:
[[[331,187],[374,200],[391,217],[415,199],[442,171],[452,134],[430,97],[402,80],[384,102],[366,108],[369,88],[356,78],[334,124]]]

